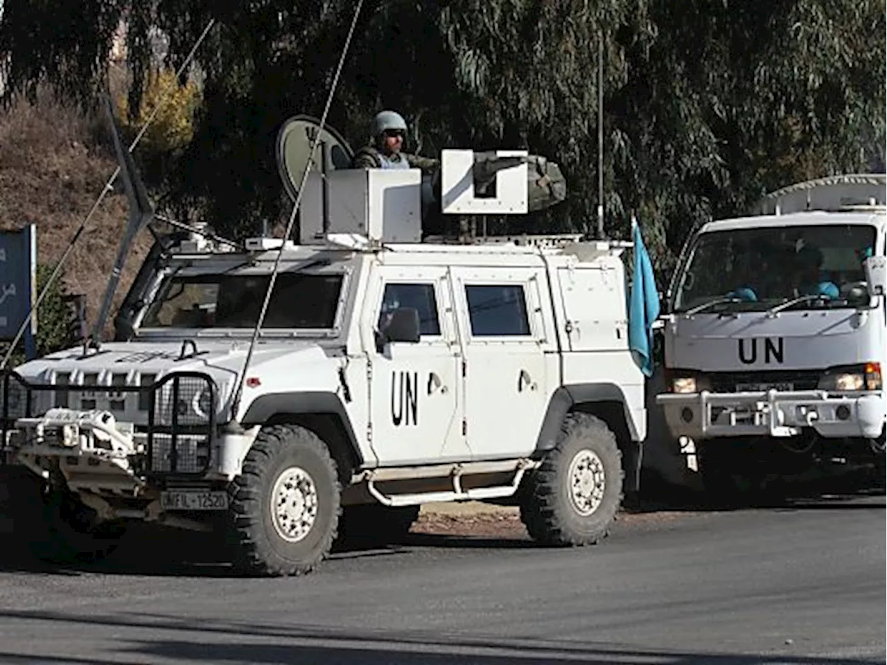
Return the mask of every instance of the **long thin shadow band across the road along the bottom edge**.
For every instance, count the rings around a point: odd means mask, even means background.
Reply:
[[[471,662],[476,665],[582,662],[594,665],[883,665],[884,659],[829,658],[790,653],[694,653],[641,650],[626,645],[585,640],[498,638],[420,631],[335,630],[326,626],[262,625],[216,620],[184,621],[157,614],[83,617],[55,612],[0,612],[0,622],[47,622],[47,630],[69,626],[114,630],[114,641],[103,645],[101,658],[37,655],[0,646],[0,662],[73,663],[342,663],[343,665],[438,665]],[[123,629],[123,630],[122,630]],[[144,631],[156,637],[142,635]]]

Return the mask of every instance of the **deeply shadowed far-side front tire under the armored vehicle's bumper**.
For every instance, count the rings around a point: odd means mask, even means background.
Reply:
[[[88,564],[105,559],[120,544],[121,522],[99,522],[98,513],[67,488],[48,487],[27,469],[3,474],[4,513],[12,539],[36,559]]]

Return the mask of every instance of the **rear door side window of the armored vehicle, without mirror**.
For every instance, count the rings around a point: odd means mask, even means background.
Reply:
[[[465,298],[475,337],[530,334],[523,286],[466,286]]]

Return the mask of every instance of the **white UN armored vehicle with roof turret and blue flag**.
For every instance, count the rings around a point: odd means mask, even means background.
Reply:
[[[281,133],[290,184],[303,129]],[[42,556],[100,556],[141,520],[223,532],[238,567],[292,575],[342,531],[402,536],[420,505],[461,500],[520,505],[544,544],[607,533],[646,428],[622,248],[423,238],[420,171],[341,168],[349,147],[322,133],[298,244],[161,238],[117,340],[4,375],[6,472]],[[443,152],[443,214],[530,209],[541,162],[489,157]],[[473,165],[501,157],[481,196]]]

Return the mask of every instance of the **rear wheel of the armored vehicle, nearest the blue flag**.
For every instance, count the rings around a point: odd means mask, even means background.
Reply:
[[[571,491],[571,466],[591,463],[600,476],[597,505],[580,508]],[[607,536],[622,503],[622,454],[606,423],[587,413],[570,413],[563,421],[553,450],[525,480],[521,520],[530,537],[549,546],[596,544]],[[585,511],[588,512],[585,512]]]

